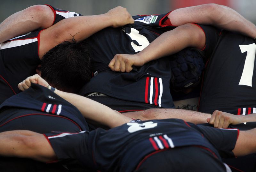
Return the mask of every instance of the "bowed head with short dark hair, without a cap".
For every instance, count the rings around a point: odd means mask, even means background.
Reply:
[[[43,56],[41,76],[53,87],[78,92],[92,77],[91,57],[91,47],[85,41],[61,42]]]

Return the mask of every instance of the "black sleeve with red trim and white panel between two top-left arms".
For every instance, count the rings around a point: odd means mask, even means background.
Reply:
[[[70,11],[67,11],[67,10],[60,10],[60,9],[55,8],[55,7],[53,7],[51,5],[48,5],[48,4],[45,4],[45,5],[49,6],[53,11],[54,21],[53,21],[52,25],[56,24],[57,22],[59,22],[62,19],[66,19],[66,18],[69,18],[69,17],[75,17],[75,16],[82,16],[82,14],[80,14],[80,13],[70,12]]]

